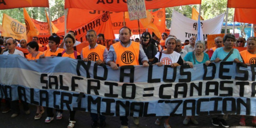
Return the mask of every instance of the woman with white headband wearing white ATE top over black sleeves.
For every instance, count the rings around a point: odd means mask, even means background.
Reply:
[[[183,59],[181,58],[181,55],[174,51],[174,48],[176,46],[176,39],[174,37],[168,37],[165,40],[165,46],[167,49],[163,52],[159,52],[156,54],[154,62],[155,65],[163,66],[163,65],[170,65],[172,68],[183,65]],[[163,123],[165,128],[171,128],[169,125],[169,119],[170,116],[164,116],[162,119],[165,119],[165,122]],[[155,125],[159,125],[160,120],[156,119]]]

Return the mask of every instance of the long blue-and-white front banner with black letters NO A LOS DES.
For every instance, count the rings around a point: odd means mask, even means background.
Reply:
[[[112,70],[67,57],[0,59],[5,63],[0,65],[0,97],[7,100],[109,116],[256,114],[256,65],[223,61],[193,69],[165,65]]]

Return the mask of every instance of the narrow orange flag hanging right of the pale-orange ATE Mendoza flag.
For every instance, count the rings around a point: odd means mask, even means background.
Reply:
[[[23,15],[26,23],[26,30],[27,30],[27,42],[32,41],[32,38],[39,35],[39,31],[37,27],[35,27],[34,23],[32,22],[28,12],[25,8],[23,8]]]

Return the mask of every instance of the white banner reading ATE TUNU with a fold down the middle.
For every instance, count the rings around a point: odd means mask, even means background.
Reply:
[[[207,39],[209,34],[221,33],[223,24],[224,13],[218,15],[212,19],[202,20],[201,26],[203,31],[203,39]],[[186,16],[173,10],[172,24],[171,24],[171,35],[175,35],[177,39],[182,41],[188,40],[190,36],[194,35],[197,37],[198,21],[187,18]]]

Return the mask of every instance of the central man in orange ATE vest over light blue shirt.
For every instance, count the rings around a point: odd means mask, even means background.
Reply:
[[[139,65],[139,58],[142,62],[142,67],[148,67],[148,59],[143,51],[142,46],[130,40],[131,29],[122,27],[119,30],[119,42],[112,44],[109,48],[106,63],[111,66],[113,70],[119,69],[118,66],[125,65]],[[139,124],[139,119],[135,118],[135,124]],[[128,128],[127,116],[120,116],[121,127]]]

